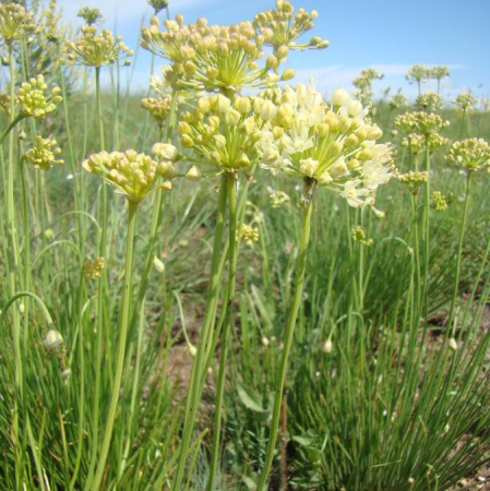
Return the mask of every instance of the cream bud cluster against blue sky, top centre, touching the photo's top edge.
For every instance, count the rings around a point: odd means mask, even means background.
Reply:
[[[254,16],[253,25],[264,37],[265,45],[274,48],[277,59],[284,61],[289,49],[323,49],[328,46],[328,41],[319,36],[313,36],[309,41],[297,43],[299,37],[312,29],[316,17],[315,10],[307,12],[298,9],[295,13],[289,1],[277,0],[275,10],[266,10]]]

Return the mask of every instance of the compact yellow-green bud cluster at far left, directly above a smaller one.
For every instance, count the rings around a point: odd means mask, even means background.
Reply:
[[[58,86],[48,92],[48,85],[45,83],[43,75],[37,75],[36,79],[24,82],[17,94],[17,101],[22,106],[22,115],[24,117],[44,118],[63,100],[60,93],[61,89]]]

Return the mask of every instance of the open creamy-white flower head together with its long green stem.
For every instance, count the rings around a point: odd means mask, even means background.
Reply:
[[[314,192],[327,188],[346,199],[350,206],[361,207],[373,204],[378,187],[393,176],[391,148],[375,143],[382,132],[364,122],[366,115],[362,105],[343,88],[334,92],[327,105],[314,87],[298,85],[296,91],[286,87],[272,119],[276,128],[261,141],[265,167],[302,179],[303,219],[296,292],[274,387],[271,434],[259,491],[265,489],[274,458],[288,357],[302,301]]]

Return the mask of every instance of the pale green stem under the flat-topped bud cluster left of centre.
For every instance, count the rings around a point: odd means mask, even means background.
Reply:
[[[116,373],[113,378],[112,392],[110,395],[109,412],[106,420],[106,429],[104,441],[98,458],[95,479],[91,489],[100,489],[104,471],[106,468],[107,455],[109,452],[110,440],[112,438],[112,428],[116,420],[116,411],[118,409],[119,392],[122,382],[122,369],[124,367],[126,339],[128,334],[128,325],[130,319],[131,307],[131,286],[132,286],[132,268],[133,268],[133,246],[134,246],[134,225],[136,218],[138,203],[131,201],[129,203],[128,216],[128,236],[126,238],[126,268],[124,268],[124,290],[122,294],[121,306],[121,325],[119,327],[119,342],[117,349]]]

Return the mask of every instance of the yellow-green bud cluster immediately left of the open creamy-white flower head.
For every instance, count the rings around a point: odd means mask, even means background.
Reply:
[[[203,164],[230,172],[247,169],[260,160],[262,128],[275,111],[276,106],[261,97],[201,97],[193,111],[181,116],[180,144],[192,148]]]

